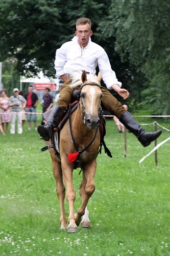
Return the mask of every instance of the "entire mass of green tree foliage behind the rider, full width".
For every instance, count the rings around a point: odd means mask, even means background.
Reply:
[[[19,75],[43,70],[53,77],[56,49],[72,39],[77,18],[89,17],[92,40],[106,50],[130,92],[125,103],[169,114],[169,13],[168,0],[1,0],[0,61],[15,58]]]

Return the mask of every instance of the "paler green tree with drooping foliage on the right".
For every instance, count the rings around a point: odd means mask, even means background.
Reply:
[[[116,38],[115,50],[121,61],[143,73],[144,95],[147,92],[154,114],[170,111],[169,28],[168,0],[112,0],[108,18],[98,28],[104,37]]]

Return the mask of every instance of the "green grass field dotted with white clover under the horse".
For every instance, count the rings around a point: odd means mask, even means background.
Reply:
[[[139,123],[152,123],[138,118]],[[41,116],[38,116],[38,124]],[[96,191],[88,210],[92,229],[78,227],[68,234],[60,230],[60,208],[55,192],[49,152],[32,127],[23,134],[0,134],[0,255],[17,256],[170,256],[170,141],[142,163],[154,143],[143,148],[127,132],[118,133],[113,120],[106,120],[105,142],[113,158],[97,157]],[[170,123],[159,122],[170,129]],[[153,131],[153,125],[144,127]],[[157,143],[170,136],[163,130]],[[80,169],[74,170],[80,205]],[[69,215],[68,203],[65,202]]]

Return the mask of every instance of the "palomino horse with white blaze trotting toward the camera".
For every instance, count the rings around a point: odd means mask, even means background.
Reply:
[[[90,78],[87,78],[90,77]],[[81,80],[80,80],[81,78]],[[75,79],[77,80],[77,78]],[[68,233],[77,231],[77,226],[82,224],[83,227],[91,227],[88,218],[87,203],[89,198],[95,191],[94,177],[97,168],[97,153],[100,145],[100,132],[99,132],[99,112],[102,93],[100,90],[101,75],[98,77],[86,74],[83,71],[82,75],[79,74],[79,80],[70,86],[81,86],[81,94],[77,109],[71,116],[72,132],[75,139],[76,146],[79,151],[83,151],[79,159],[78,167],[82,169],[82,182],[80,185],[80,196],[82,204],[74,214],[73,204],[75,200],[75,191],[73,188],[73,168],[74,163],[68,158],[68,155],[77,153],[71,135],[69,120],[67,120],[64,127],[60,130],[60,157],[55,155],[54,150],[49,149],[52,159],[53,175],[56,180],[56,191],[60,201],[60,223],[61,229],[66,229]],[[73,81],[73,79],[72,79]],[[94,139],[95,138],[95,139]],[[92,144],[91,141],[93,141]],[[50,141],[46,142],[50,145]],[[90,146],[88,146],[90,144]],[[86,148],[87,147],[87,148]],[[78,155],[78,153],[77,153]],[[64,179],[64,181],[63,181]],[[67,226],[67,219],[64,209],[65,186],[66,185],[66,198],[69,203],[69,225]],[[82,216],[83,221],[81,221]]]

